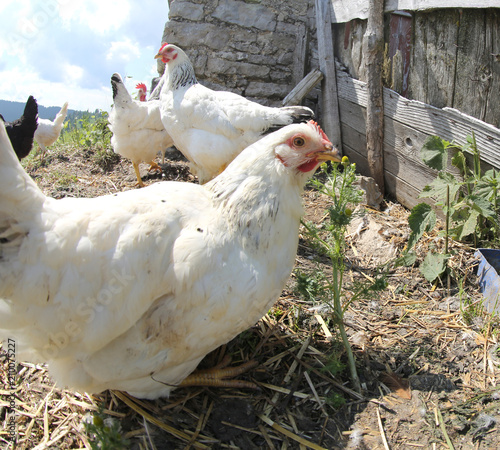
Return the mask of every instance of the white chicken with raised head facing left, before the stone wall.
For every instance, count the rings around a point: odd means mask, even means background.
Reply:
[[[272,108],[202,86],[189,58],[175,45],[163,44],[155,58],[165,63],[159,83],[161,120],[201,184],[263,135],[314,116],[305,106]]]

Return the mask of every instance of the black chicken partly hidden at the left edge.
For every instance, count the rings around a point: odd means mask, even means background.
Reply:
[[[29,96],[23,115],[13,122],[6,122],[0,114],[0,119],[5,122],[12,147],[17,157],[21,160],[28,156],[33,147],[33,136],[38,126],[38,104],[32,95]]]

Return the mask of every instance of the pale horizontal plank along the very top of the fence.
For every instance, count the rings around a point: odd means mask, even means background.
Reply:
[[[368,18],[369,0],[330,0],[333,23]],[[498,0],[386,0],[385,12],[397,10],[425,11],[439,8],[498,8]]]

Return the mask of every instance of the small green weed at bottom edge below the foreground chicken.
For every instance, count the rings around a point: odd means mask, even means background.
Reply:
[[[92,450],[125,450],[130,442],[121,435],[121,427],[116,419],[106,417],[102,410],[96,413],[92,422],[84,422]]]

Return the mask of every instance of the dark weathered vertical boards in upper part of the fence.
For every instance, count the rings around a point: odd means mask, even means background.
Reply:
[[[367,81],[360,52],[366,22],[334,26],[337,58],[362,81]],[[500,8],[386,15],[385,45],[385,87],[500,127]]]

